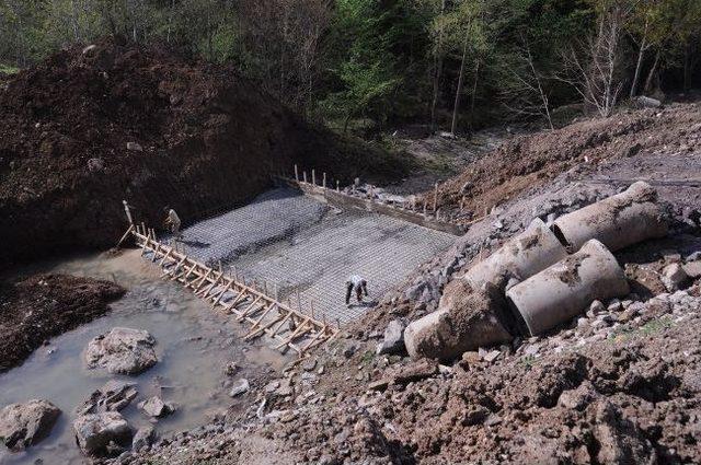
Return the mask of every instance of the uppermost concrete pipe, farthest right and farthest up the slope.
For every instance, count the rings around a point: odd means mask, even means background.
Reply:
[[[667,224],[656,201],[657,191],[647,183],[637,182],[621,194],[556,219],[552,230],[571,251],[577,251],[590,239],[618,251],[667,235]]]

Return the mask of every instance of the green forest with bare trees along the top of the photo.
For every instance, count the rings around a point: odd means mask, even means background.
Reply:
[[[342,131],[467,135],[688,93],[701,1],[0,0],[0,72],[110,34],[231,66]]]

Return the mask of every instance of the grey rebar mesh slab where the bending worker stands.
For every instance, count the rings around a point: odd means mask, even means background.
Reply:
[[[254,202],[183,232],[186,253],[235,268],[279,300],[313,307],[318,318],[348,323],[387,290],[446,249],[455,236],[394,218],[331,209],[292,189],[275,189]],[[367,279],[369,299],[345,305],[345,281]],[[298,302],[299,299],[299,302]]]

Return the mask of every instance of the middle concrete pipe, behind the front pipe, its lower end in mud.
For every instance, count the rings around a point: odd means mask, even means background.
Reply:
[[[567,256],[567,251],[539,218],[522,233],[474,265],[464,278],[473,289],[490,282],[504,290],[510,278],[524,280]]]

